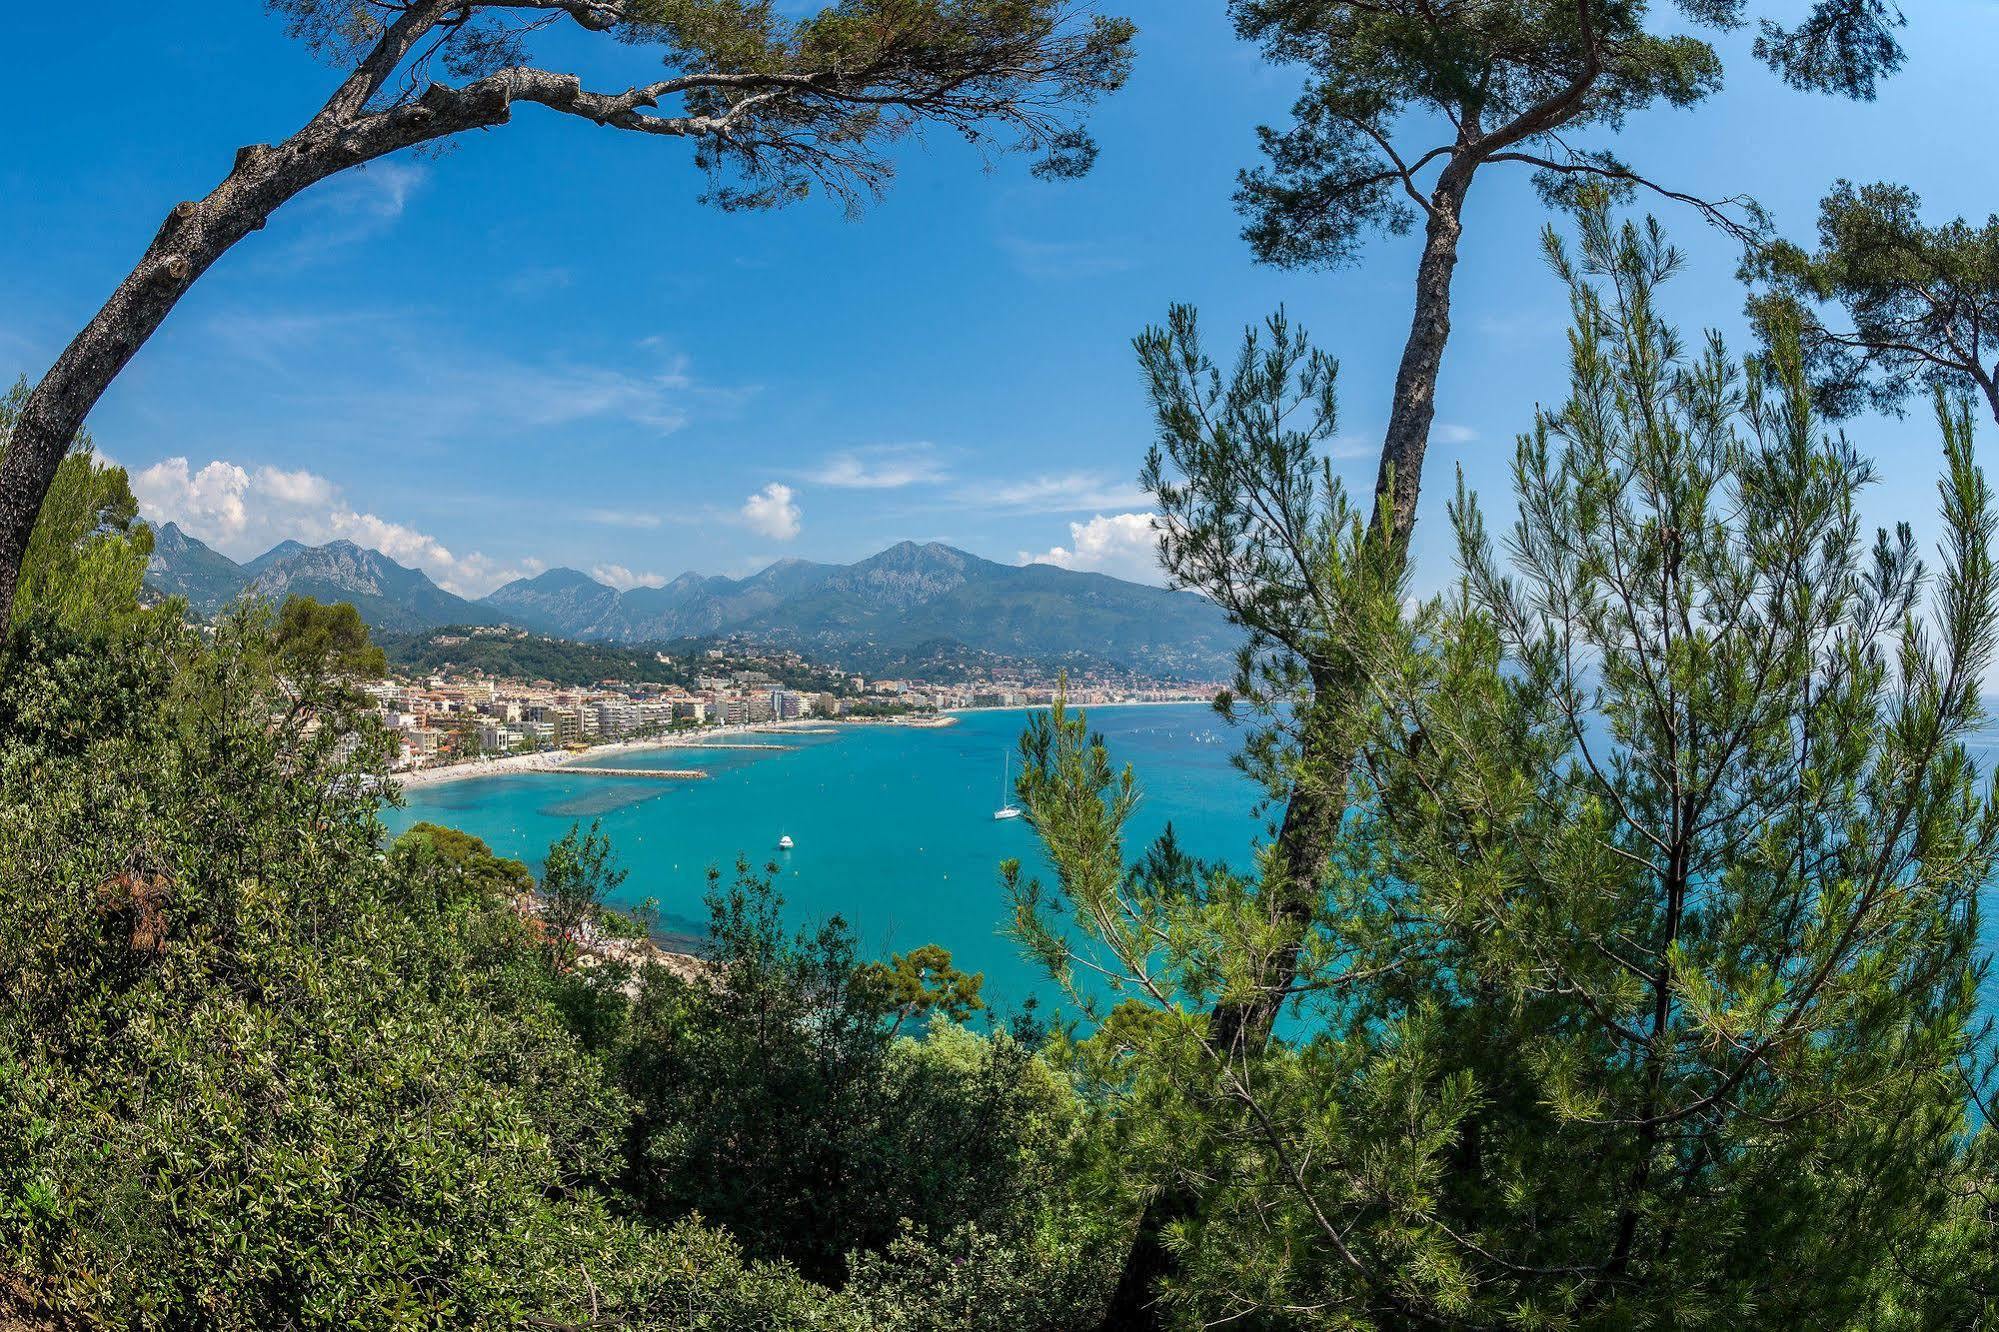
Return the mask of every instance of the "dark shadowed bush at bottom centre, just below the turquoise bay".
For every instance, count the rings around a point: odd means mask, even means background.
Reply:
[[[648,1212],[698,1212],[826,1282],[906,1226],[1049,1220],[1073,1098],[1011,1034],[950,1020],[976,978],[936,950],[924,972],[864,964],[838,918],[788,936],[748,866],[710,908],[710,970],[654,972],[618,1052]],[[910,1016],[932,1018],[924,1040],[900,1034]]]

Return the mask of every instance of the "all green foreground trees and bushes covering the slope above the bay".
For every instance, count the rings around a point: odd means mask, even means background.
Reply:
[[[750,864],[664,968],[596,828],[540,866],[388,840],[354,608],[142,608],[152,532],[74,454],[0,672],[0,1316],[1063,1332],[1125,1326],[1139,1270],[1187,1328],[1979,1326],[1999,514],[1943,400],[1939,572],[1861,542],[1867,464],[1781,346],[1773,388],[1681,358],[1657,244],[1585,230],[1615,304],[1571,270],[1573,398],[1505,562],[1453,506],[1455,596],[1403,602],[1301,436],[1163,436],[1175,540],[1263,540],[1203,526],[1249,476],[1337,570],[1241,658],[1247,774],[1299,772],[1277,630],[1375,692],[1285,928],[1273,850],[1127,848],[1137,774],[1035,716],[1057,876],[998,870],[1073,1026],[790,934]],[[1269,336],[1251,364],[1319,364]],[[1569,562],[1611,548],[1629,582]]]

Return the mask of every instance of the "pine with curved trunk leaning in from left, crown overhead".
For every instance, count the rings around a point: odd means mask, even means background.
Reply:
[[[20,404],[0,460],[0,618],[70,440],[126,362],[236,242],[338,172],[508,124],[522,106],[684,140],[724,208],[820,188],[850,208],[890,180],[890,148],[926,126],[986,152],[1089,168],[1079,114],[1115,90],[1131,24],[1067,0],[844,0],[794,16],[768,0],[270,0],[342,74],[306,124],[236,150],[228,174],[168,210],[104,306]],[[664,74],[588,88],[532,62],[566,24],[658,52]]]

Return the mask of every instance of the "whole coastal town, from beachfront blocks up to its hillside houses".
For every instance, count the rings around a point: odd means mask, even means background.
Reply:
[[[660,656],[666,662],[666,656]],[[392,768],[436,780],[484,772],[500,760],[558,760],[602,746],[694,742],[730,730],[800,722],[950,724],[950,714],[1047,706],[1207,702],[1215,684],[1131,674],[1045,676],[994,672],[970,680],[868,678],[818,666],[796,652],[710,648],[686,684],[600,680],[590,686],[518,680],[478,668],[394,670],[370,682],[394,738]]]

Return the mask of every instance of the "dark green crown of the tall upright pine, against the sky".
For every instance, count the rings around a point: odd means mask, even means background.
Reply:
[[[1655,20],[1641,0],[1235,0],[1237,32],[1311,76],[1293,124],[1259,130],[1267,164],[1241,178],[1257,258],[1349,262],[1369,232],[1399,234],[1443,202],[1425,172],[1439,168],[1439,186],[1453,186],[1441,194],[1461,194],[1485,162],[1535,166],[1551,188],[1569,176],[1651,188],[1743,230],[1727,210],[1569,142],[1721,86],[1721,56],[1685,28],[1735,28],[1747,0],[1673,8],[1679,22]],[[1763,20],[1755,50],[1799,88],[1871,96],[1901,64],[1897,26],[1881,0],[1821,0],[1791,28]],[[1423,142],[1431,126],[1443,134]]]

